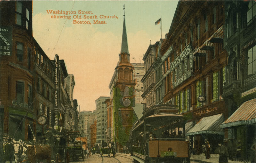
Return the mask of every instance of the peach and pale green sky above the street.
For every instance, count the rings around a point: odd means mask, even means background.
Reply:
[[[74,74],[73,98],[81,111],[95,110],[97,98],[110,96],[108,85],[121,50],[124,4],[130,62],[144,63],[150,40],[155,44],[161,38],[160,24],[155,22],[162,18],[164,38],[178,1],[33,1],[33,36],[51,60],[58,54],[68,74]],[[53,13],[58,10],[73,13]],[[94,24],[96,20],[106,24]]]

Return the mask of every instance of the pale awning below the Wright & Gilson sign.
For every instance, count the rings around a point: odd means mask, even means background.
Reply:
[[[224,121],[223,114],[217,114],[210,117],[203,117],[197,124],[187,132],[189,135],[198,134],[218,134],[223,135],[224,132],[220,128],[220,124]]]

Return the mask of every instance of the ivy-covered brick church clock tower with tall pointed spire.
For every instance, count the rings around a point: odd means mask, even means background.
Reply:
[[[135,103],[134,86],[136,85],[133,69],[130,63],[124,17],[121,52],[115,68],[116,80],[112,88],[113,138],[116,141],[117,152],[122,152],[121,148],[127,145],[132,124],[137,119],[132,108]]]

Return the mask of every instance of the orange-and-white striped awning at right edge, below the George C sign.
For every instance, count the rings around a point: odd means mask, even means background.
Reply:
[[[244,102],[228,119],[220,124],[221,128],[255,124],[256,123],[256,98]]]

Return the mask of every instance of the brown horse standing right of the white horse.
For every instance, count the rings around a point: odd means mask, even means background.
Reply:
[[[31,145],[27,149],[28,161],[36,162],[36,159],[47,159],[47,163],[51,163],[51,146],[50,145]]]

